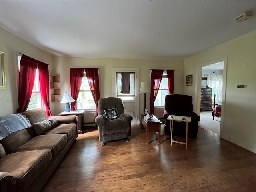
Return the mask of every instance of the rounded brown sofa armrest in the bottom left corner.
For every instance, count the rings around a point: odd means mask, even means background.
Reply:
[[[16,180],[14,177],[8,172],[0,172],[1,179],[1,191],[14,191]]]

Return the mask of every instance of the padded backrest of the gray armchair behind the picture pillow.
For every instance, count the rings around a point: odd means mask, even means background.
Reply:
[[[98,115],[105,116],[105,109],[117,108],[118,114],[124,113],[124,105],[121,98],[107,97],[98,101]]]

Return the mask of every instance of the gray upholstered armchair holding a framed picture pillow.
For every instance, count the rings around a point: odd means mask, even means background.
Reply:
[[[107,141],[126,139],[131,135],[132,116],[124,113],[122,99],[115,97],[100,98],[98,116],[95,123],[99,129],[99,140],[103,146]]]

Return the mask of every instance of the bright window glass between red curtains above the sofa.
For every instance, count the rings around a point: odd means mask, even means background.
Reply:
[[[20,70],[20,60],[21,60],[21,56],[18,56],[18,69],[19,70]],[[41,98],[38,69],[36,70],[36,78],[35,78],[35,82],[34,82],[34,87],[32,90],[32,94],[31,94],[31,98],[30,98],[27,110],[31,110],[31,109],[35,109],[35,108],[42,108],[45,110],[45,106],[44,106],[42,98]]]

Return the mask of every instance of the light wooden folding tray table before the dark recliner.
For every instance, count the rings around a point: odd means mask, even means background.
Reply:
[[[185,119],[182,119],[182,118],[185,118]],[[174,143],[184,144],[184,145],[186,145],[186,148],[187,148],[187,145],[188,145],[188,123],[191,122],[191,117],[178,116],[178,115],[169,115],[167,119],[170,120],[171,145],[172,145],[172,142],[174,142]],[[186,142],[174,141],[172,139],[172,130],[173,130],[173,122],[174,121],[184,121],[184,122],[186,122]]]

